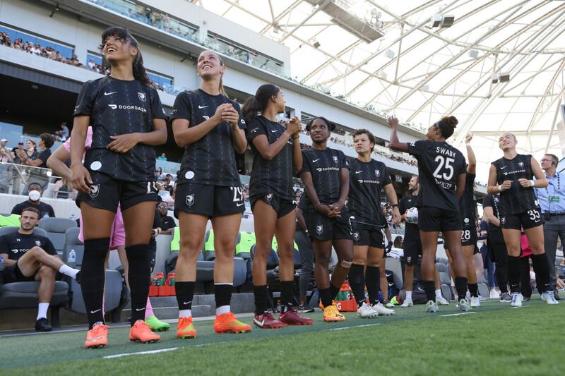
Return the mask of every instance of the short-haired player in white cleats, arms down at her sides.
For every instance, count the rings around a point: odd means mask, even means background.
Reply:
[[[367,129],[357,129],[353,133],[353,144],[357,158],[349,166],[349,214],[353,233],[353,264],[349,269],[349,284],[357,301],[359,317],[393,315],[394,310],[386,308],[379,301],[379,290],[383,299],[388,295],[388,283],[383,288],[380,286],[381,271],[384,274],[385,268],[383,229],[388,226],[381,211],[381,189],[393,205],[393,223],[400,222],[398,198],[386,166],[371,158],[375,146],[373,133]],[[365,303],[365,286],[369,293],[369,304]]]

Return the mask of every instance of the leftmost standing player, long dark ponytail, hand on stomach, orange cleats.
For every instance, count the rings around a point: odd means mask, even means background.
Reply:
[[[166,116],[145,73],[135,38],[124,28],[109,28],[102,33],[100,49],[111,73],[83,85],[71,134],[73,188],[79,190],[76,200],[81,206],[85,238],[81,288],[90,325],[87,348],[107,344],[102,312],[104,261],[118,204],[124,217],[129,263],[129,339],[160,339],[143,319],[149,292],[148,244],[157,200],[153,146],[167,141]],[[93,141],[83,165],[89,125]]]

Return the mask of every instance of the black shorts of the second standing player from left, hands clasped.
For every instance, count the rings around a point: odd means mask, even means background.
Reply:
[[[202,214],[210,218],[243,213],[245,211],[243,189],[241,186],[179,184],[174,195],[174,217],[179,217],[179,211],[189,214]]]

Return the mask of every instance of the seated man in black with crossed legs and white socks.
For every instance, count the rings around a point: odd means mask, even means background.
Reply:
[[[12,234],[0,236],[0,257],[4,257],[6,270],[5,282],[39,281],[37,300],[39,307],[35,321],[36,332],[52,330],[47,321],[47,309],[55,288],[55,275],[61,272],[80,281],[80,272],[65,265],[59,257],[53,243],[33,231],[40,222],[40,212],[26,207],[21,213],[20,228]]]

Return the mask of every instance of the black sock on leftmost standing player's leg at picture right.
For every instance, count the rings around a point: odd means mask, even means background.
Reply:
[[[149,295],[151,266],[147,254],[149,244],[136,244],[126,247],[129,263],[129,289],[131,292],[131,325],[137,320],[145,320],[145,305]]]

